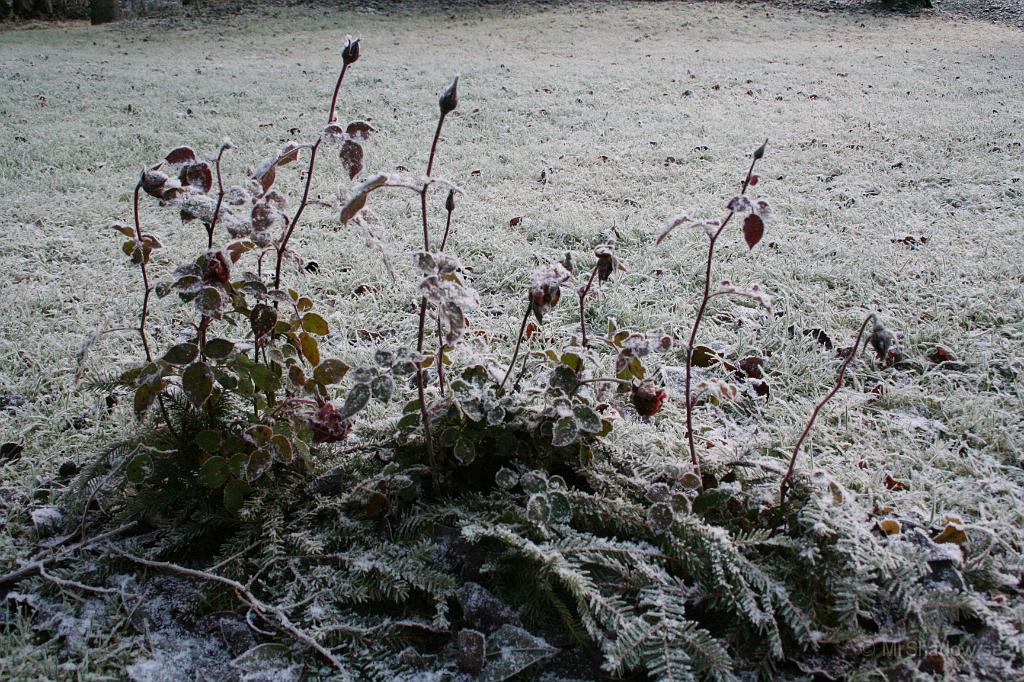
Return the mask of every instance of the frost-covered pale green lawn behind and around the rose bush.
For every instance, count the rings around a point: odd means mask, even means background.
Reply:
[[[462,75],[437,162],[467,189],[449,249],[473,268],[483,299],[474,326],[505,353],[529,270],[564,250],[589,267],[612,225],[629,271],[589,304],[591,319],[685,339],[703,237],[681,228],[660,249],[653,237],[681,209],[721,217],[748,155],[770,138],[758,189],[777,219],[754,252],[738,236],[724,240],[717,276],[764,283],[784,314],[764,325],[719,304],[723,314],[709,318],[700,341],[737,355],[770,353],[771,398],[701,409],[699,423],[721,442],[708,457],[776,452],[784,464],[837,367],[834,354],[799,333],[790,338],[787,328],[824,329],[845,345],[864,312],[878,310],[922,371],[857,368],[819,420],[803,464],[880,506],[963,517],[981,528],[975,542],[991,532],[1006,543],[997,551],[1019,574],[1020,32],[719,4],[588,4],[515,16],[268,12],[272,20],[253,14],[206,27],[143,22],[0,34],[0,396],[26,400],[0,412],[3,441],[25,444],[0,470],[4,567],[32,553],[29,511],[59,464],[84,460],[131,425],[127,406],[106,414],[101,395],[76,385],[75,356],[91,331],[131,325],[137,313],[137,271],[106,227],[129,217],[137,169],[179,143],[213,150],[229,135],[241,148],[226,157],[225,173],[238,178],[280,142],[311,138],[352,33],[365,38],[364,57],[339,109],[343,119],[369,117],[382,129],[368,145],[371,170],[423,166],[436,94]],[[286,186],[295,188],[292,168]],[[321,164],[316,191],[329,197],[340,174],[338,164]],[[420,239],[417,202],[399,196],[375,209],[399,272],[408,270],[404,254]],[[197,248],[205,241],[201,228],[174,226],[152,205],[143,216],[158,233],[194,229]],[[335,330],[334,353],[365,356],[368,335],[386,344],[412,338],[414,279],[391,283],[361,237],[330,212],[306,216],[296,239],[322,268],[304,284]],[[515,216],[523,220],[513,227]],[[908,235],[927,244],[893,243]],[[165,254],[170,263],[181,255]],[[376,291],[356,295],[360,285]],[[546,318],[549,335],[575,329],[571,302]],[[154,314],[173,323],[177,311],[164,301]],[[164,329],[157,342],[166,346]],[[937,344],[963,371],[927,359]],[[132,334],[105,336],[87,367],[137,359],[137,346]],[[673,361],[681,357],[677,351]],[[882,382],[882,395],[865,381]],[[83,414],[92,421],[75,428]],[[641,457],[654,449],[685,457],[678,400],[651,425],[616,433],[615,446]],[[909,489],[889,489],[887,475]],[[26,637],[17,627],[0,637],[0,677],[15,674],[7,667]],[[36,675],[57,674],[52,651],[30,655],[40,662]],[[89,657],[83,670],[112,666],[103,660]],[[25,670],[16,675],[32,674]]]

